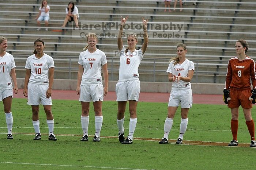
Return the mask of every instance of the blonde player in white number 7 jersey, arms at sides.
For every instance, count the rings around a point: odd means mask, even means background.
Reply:
[[[88,140],[90,101],[93,101],[95,113],[95,135],[93,142],[99,142],[99,134],[103,121],[102,101],[108,93],[108,65],[105,53],[96,48],[98,42],[94,33],[87,35],[88,45],[79,55],[79,70],[77,76],[76,94],[80,95],[79,101],[82,105],[81,125],[83,137],[81,141]],[[103,88],[101,69],[105,81]]]

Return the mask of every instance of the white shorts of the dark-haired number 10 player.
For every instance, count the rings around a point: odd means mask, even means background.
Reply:
[[[29,83],[27,85],[28,96],[27,104],[38,106],[42,105],[52,105],[52,97],[46,98],[46,91],[49,88],[49,84],[33,84]]]

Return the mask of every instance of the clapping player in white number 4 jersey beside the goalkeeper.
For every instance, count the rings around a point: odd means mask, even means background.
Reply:
[[[163,128],[164,135],[160,144],[168,143],[168,135],[173,125],[173,118],[181,104],[181,123],[180,135],[176,144],[182,144],[183,135],[188,125],[188,110],[192,107],[191,83],[195,65],[192,61],[186,59],[187,47],[180,43],[177,48],[177,57],[173,58],[166,72],[169,73],[168,79],[172,82],[172,90],[168,103],[168,115]]]

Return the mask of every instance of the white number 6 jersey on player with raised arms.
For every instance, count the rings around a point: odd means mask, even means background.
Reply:
[[[118,81],[139,79],[138,68],[144,54],[142,54],[142,49],[135,50],[132,53],[128,50],[125,54],[125,47],[123,46],[123,49],[119,53],[120,65]]]

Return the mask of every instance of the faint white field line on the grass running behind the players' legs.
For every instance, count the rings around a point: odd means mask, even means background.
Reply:
[[[0,127],[0,129],[6,129],[7,127]],[[31,127],[12,127],[13,129],[14,128],[19,128],[19,129],[22,129],[22,128],[34,128],[33,126]],[[40,128],[48,128],[48,127],[40,127]],[[81,127],[54,127],[54,129],[80,129]],[[94,127],[89,127],[89,129],[91,129]],[[112,127],[112,128],[104,128],[102,127],[102,129],[117,129],[116,127]],[[144,128],[136,128],[136,129],[140,129],[140,130],[144,130]],[[163,129],[159,129],[159,128],[146,128],[146,130],[162,130]],[[172,128],[172,130],[180,130],[180,129],[174,129]],[[231,130],[211,130],[211,129],[187,129],[189,131],[227,131],[227,132],[230,132]],[[248,130],[238,130],[239,132],[248,132]]]

